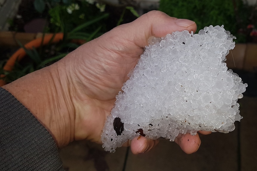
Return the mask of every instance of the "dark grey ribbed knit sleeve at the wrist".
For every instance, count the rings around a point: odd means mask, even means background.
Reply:
[[[58,148],[46,128],[1,87],[0,170],[64,170]]]

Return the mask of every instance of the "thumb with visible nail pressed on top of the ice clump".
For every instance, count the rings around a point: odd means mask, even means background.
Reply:
[[[129,26],[130,31],[127,33],[130,34],[130,37],[133,37],[134,43],[142,48],[148,45],[147,40],[151,36],[163,37],[166,34],[183,30],[195,32],[197,28],[194,21],[170,17],[160,11],[150,11],[129,23]]]

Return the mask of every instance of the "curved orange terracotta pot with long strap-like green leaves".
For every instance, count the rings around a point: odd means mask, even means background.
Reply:
[[[68,48],[69,51],[71,51],[85,43],[85,41],[91,40],[99,32],[100,27],[90,34],[80,32],[80,30],[91,26],[106,17],[108,17],[108,14],[103,14],[98,18],[79,25],[66,34],[63,32],[47,34],[32,40],[24,46],[20,44],[21,48],[8,59],[0,70],[0,86],[12,82],[30,72],[43,68],[47,64],[66,56],[67,53],[64,52],[66,50],[63,49]],[[39,50],[37,50],[38,48]],[[19,62],[26,56],[27,59],[25,60],[27,61],[23,61],[22,66]]]

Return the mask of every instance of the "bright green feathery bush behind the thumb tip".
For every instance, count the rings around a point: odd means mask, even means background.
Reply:
[[[231,0],[160,0],[160,11],[177,17],[193,20],[197,32],[209,25],[224,25],[227,30],[235,29],[235,13]]]

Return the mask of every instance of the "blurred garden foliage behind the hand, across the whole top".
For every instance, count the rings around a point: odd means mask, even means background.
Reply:
[[[16,17],[10,20],[10,31],[25,32],[27,23],[42,18],[46,21],[43,32],[62,32],[63,39],[33,49],[21,45],[27,56],[16,61],[12,71],[3,70],[9,56],[0,60],[0,74],[5,75],[2,79],[11,82],[48,66],[81,43],[99,37],[117,25],[134,21],[139,14],[153,9],[195,21],[196,33],[205,26],[224,25],[237,37],[236,43],[257,43],[257,2],[249,5],[243,0],[160,0],[156,6],[140,3],[134,0],[118,0],[117,3],[106,0],[22,0]],[[74,39],[83,41],[78,43],[72,41]]]

